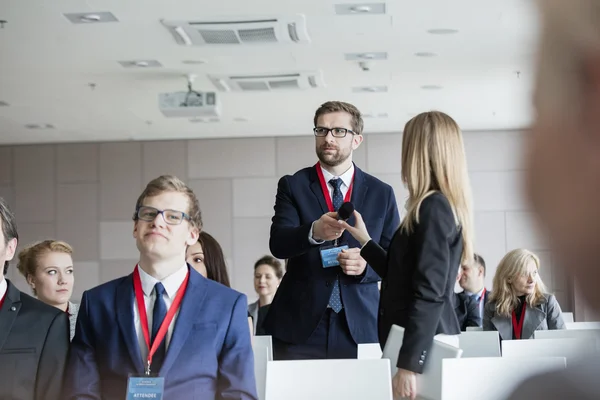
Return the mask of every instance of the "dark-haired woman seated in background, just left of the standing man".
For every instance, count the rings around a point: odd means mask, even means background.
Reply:
[[[254,334],[262,333],[262,327],[259,325],[259,315],[266,315],[269,305],[275,297],[275,292],[283,278],[283,268],[281,262],[273,256],[261,257],[254,263],[254,290],[258,294],[258,300],[248,305],[248,313],[254,320]],[[259,314],[259,309],[263,312]]]

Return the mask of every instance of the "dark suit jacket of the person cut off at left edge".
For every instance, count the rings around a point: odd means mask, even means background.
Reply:
[[[7,283],[0,309],[0,399],[62,400],[69,318]]]

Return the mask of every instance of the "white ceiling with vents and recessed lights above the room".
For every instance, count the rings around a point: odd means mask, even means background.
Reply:
[[[0,0],[0,144],[310,134],[315,109],[348,101],[366,132],[397,132],[438,109],[464,130],[526,128],[537,19],[530,0],[388,0],[385,14],[336,15],[330,0]],[[65,13],[112,13],[74,24]],[[181,46],[160,22],[302,14],[309,43]],[[454,34],[431,34],[454,29]],[[362,71],[345,53],[387,52]],[[432,57],[416,53],[434,53]],[[125,68],[119,61],[157,60]],[[189,65],[185,60],[202,61]],[[207,74],[320,71],[324,87],[220,92]],[[517,73],[518,72],[518,73]],[[166,118],[158,94],[217,91],[219,122]],[[423,86],[441,89],[423,89]],[[355,86],[385,86],[354,93]],[[387,117],[377,117],[387,114]],[[36,129],[27,125],[41,126]],[[46,124],[50,129],[44,129]]]

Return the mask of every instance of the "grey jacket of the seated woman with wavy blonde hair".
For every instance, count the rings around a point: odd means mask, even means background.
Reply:
[[[549,294],[545,298],[545,302],[535,307],[527,305],[521,339],[533,338],[533,332],[538,330],[566,329],[556,297]],[[512,317],[498,315],[496,313],[496,302],[490,301],[485,305],[483,330],[498,331],[501,340],[512,340]]]

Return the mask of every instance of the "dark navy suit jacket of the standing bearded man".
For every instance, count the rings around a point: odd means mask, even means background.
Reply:
[[[362,214],[373,240],[387,249],[400,224],[394,190],[355,166],[351,201]],[[358,277],[345,275],[340,267],[322,267],[321,246],[312,245],[308,234],[312,223],[327,212],[315,167],[279,180],[269,245],[275,257],[288,259],[288,266],[266,316],[265,331],[287,343],[306,342],[327,309],[332,283],[339,278],[354,341],[372,343],[377,340],[380,278],[370,266]],[[354,216],[348,222],[353,225]],[[343,242],[349,247],[360,247],[347,232],[341,237],[340,243]]]

